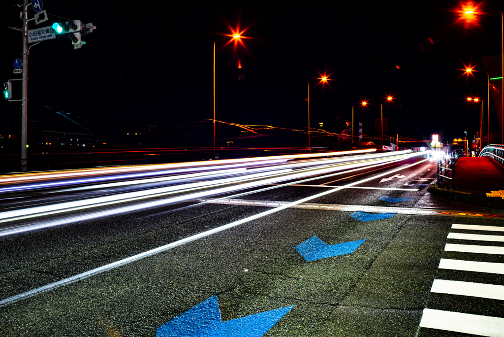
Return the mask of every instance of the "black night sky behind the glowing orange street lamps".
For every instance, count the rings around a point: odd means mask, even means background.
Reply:
[[[21,77],[12,73],[21,58],[21,33],[8,29],[21,26],[19,8],[11,6],[17,3],[0,5],[2,82]],[[461,69],[470,64],[483,71],[481,57],[501,53],[500,15],[489,12],[479,27],[466,29],[456,23],[457,1],[131,4],[44,1],[49,14],[93,22],[97,29],[83,38],[81,50],[65,38],[30,50],[29,116],[46,105],[75,111],[111,132],[211,119],[213,42],[231,33],[227,23],[233,29],[239,23],[240,30],[247,28],[243,36],[251,37],[243,39],[246,49],[223,47],[228,39],[218,43],[217,120],[306,127],[309,80],[312,127],[338,117],[351,120],[355,104],[364,133],[373,133],[381,99],[390,93],[397,98],[384,105],[391,135],[429,139],[439,133],[448,141],[468,131],[472,138],[479,106],[465,97],[486,97],[486,75],[467,78]],[[474,4],[482,10],[504,7],[501,1]],[[55,21],[64,20],[49,16],[37,28]],[[319,72],[331,74],[330,87],[316,85]],[[17,98],[20,86],[14,89]],[[358,108],[361,99],[369,100],[369,109]],[[3,120],[19,120],[20,105],[2,101]],[[500,132],[490,108],[491,131]]]

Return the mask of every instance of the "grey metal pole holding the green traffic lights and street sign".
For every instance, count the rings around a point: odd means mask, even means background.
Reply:
[[[21,92],[21,171],[28,170],[28,0],[23,1],[23,72],[22,72],[22,92]]]

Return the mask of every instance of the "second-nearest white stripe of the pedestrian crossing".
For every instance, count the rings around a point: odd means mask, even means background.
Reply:
[[[504,286],[484,283],[434,279],[430,292],[504,300]]]

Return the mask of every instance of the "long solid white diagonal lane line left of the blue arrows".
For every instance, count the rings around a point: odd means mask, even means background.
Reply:
[[[29,297],[32,297],[32,296],[35,296],[35,295],[38,295],[38,294],[41,294],[41,293],[45,293],[45,292],[47,292],[49,290],[52,290],[52,289],[56,289],[56,288],[59,288],[59,287],[62,287],[62,286],[65,286],[65,285],[77,282],[79,280],[91,277],[93,275],[97,275],[99,273],[102,273],[102,272],[110,270],[110,269],[117,268],[119,266],[128,264],[130,262],[137,261],[137,260],[146,258],[148,256],[152,256],[154,254],[158,254],[160,252],[163,252],[163,251],[166,251],[168,249],[171,249],[171,248],[174,248],[174,247],[186,244],[188,242],[192,242],[192,241],[195,241],[195,240],[199,240],[199,239],[211,236],[211,235],[213,235],[215,233],[219,233],[219,232],[228,230],[230,228],[236,227],[239,224],[246,223],[246,222],[249,222],[251,220],[259,219],[259,218],[262,218],[262,217],[264,217],[266,215],[276,213],[276,212],[281,211],[283,209],[292,207],[292,206],[294,206],[296,204],[300,204],[300,203],[309,201],[311,199],[316,199],[316,198],[319,198],[319,197],[331,194],[331,193],[339,191],[339,190],[343,190],[346,187],[354,186],[354,185],[361,184],[361,183],[364,183],[364,182],[367,182],[367,181],[370,181],[370,180],[373,180],[373,179],[376,179],[376,178],[380,178],[380,177],[383,177],[383,176],[385,176],[387,174],[390,174],[390,173],[393,173],[393,172],[405,170],[406,168],[418,165],[418,164],[420,164],[420,163],[422,163],[422,162],[424,162],[426,160],[428,160],[428,158],[424,159],[424,160],[420,160],[420,161],[415,162],[415,163],[410,164],[410,165],[406,165],[404,167],[396,168],[395,170],[392,170],[391,172],[379,174],[379,175],[376,175],[376,176],[373,176],[373,177],[369,177],[369,178],[366,178],[366,179],[363,179],[363,180],[360,180],[360,181],[357,181],[357,182],[350,183],[350,184],[342,186],[342,187],[338,187],[338,188],[335,188],[335,189],[331,189],[331,190],[328,190],[328,191],[325,191],[325,192],[322,192],[322,193],[318,193],[318,194],[315,194],[315,195],[303,198],[303,199],[299,199],[297,201],[293,201],[293,202],[284,204],[284,205],[282,205],[280,207],[272,208],[272,209],[269,209],[269,210],[267,210],[265,212],[261,212],[261,213],[258,213],[258,214],[252,215],[252,216],[248,216],[246,218],[243,218],[243,219],[240,219],[240,220],[228,223],[228,224],[224,224],[223,226],[214,228],[212,230],[208,230],[208,231],[205,231],[205,232],[202,232],[202,233],[199,233],[199,234],[196,234],[196,235],[193,235],[193,236],[190,236],[190,237],[187,237],[187,238],[184,238],[184,239],[172,242],[170,244],[167,244],[167,245],[164,245],[164,246],[161,246],[161,247],[158,247],[158,248],[151,249],[151,250],[149,250],[147,252],[143,252],[143,253],[140,253],[140,254],[137,254],[137,255],[134,255],[134,256],[131,256],[131,257],[128,257],[128,258],[125,258],[125,259],[122,259],[122,260],[119,260],[119,261],[116,261],[116,262],[112,262],[112,263],[109,263],[107,265],[104,265],[104,266],[101,266],[101,267],[98,267],[98,268],[95,268],[95,269],[92,269],[92,270],[89,270],[89,271],[86,271],[86,272],[83,272],[83,273],[80,273],[80,274],[77,274],[77,275],[74,275],[74,276],[71,276],[71,277],[68,277],[68,278],[61,279],[61,280],[59,280],[57,282],[53,282],[53,283],[48,284],[46,286],[42,286],[42,287],[39,287],[39,288],[36,288],[36,289],[32,289],[32,290],[27,291],[25,293],[18,294],[18,295],[6,298],[4,300],[1,300],[0,301],[0,307],[8,305],[8,304],[11,304],[11,303],[14,303],[14,302],[17,302],[17,301],[20,301],[20,300],[23,300],[23,299],[26,299],[26,298],[29,298]]]

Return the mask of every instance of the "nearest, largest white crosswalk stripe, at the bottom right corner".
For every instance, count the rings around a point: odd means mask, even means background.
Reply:
[[[423,309],[420,326],[490,337],[504,336],[504,318],[453,311]]]

